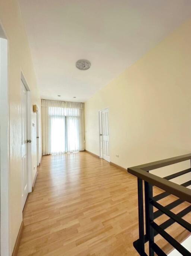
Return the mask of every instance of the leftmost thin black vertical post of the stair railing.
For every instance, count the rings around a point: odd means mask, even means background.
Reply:
[[[138,216],[139,216],[139,242],[141,253],[145,252],[144,242],[144,213],[143,213],[143,180],[137,179],[138,185]]]

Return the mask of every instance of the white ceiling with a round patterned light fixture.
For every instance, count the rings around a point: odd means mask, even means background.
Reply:
[[[191,0],[19,3],[42,99],[76,102],[85,102],[191,16]],[[79,59],[89,60],[90,69],[78,70]]]

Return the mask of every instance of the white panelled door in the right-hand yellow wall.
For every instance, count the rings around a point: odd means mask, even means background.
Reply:
[[[109,156],[109,110],[100,111],[100,150],[101,157],[110,162]]]

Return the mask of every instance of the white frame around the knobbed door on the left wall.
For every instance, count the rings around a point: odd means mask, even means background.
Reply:
[[[25,79],[24,73],[21,69],[21,80],[25,85],[27,91],[27,128],[28,139],[32,141],[32,106],[31,106],[31,90]],[[32,192],[32,142],[28,143],[28,193]]]

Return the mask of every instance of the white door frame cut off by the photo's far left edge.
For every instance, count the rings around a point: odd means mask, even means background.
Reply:
[[[0,23],[0,254],[10,255],[10,110],[9,110],[9,40]],[[1,48],[2,47],[2,48]]]

